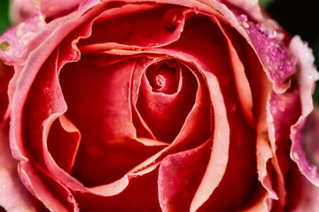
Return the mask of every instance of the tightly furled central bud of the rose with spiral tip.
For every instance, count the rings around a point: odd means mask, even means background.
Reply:
[[[150,65],[141,79],[136,108],[154,136],[171,142],[191,111],[198,82],[184,65],[166,61]]]

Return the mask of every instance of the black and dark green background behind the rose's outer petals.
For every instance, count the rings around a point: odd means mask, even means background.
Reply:
[[[10,26],[8,0],[0,0],[0,34]],[[319,8],[315,0],[260,0],[269,13],[290,34],[300,34],[314,50],[315,64],[319,68]],[[319,104],[319,82],[315,90],[315,102]]]

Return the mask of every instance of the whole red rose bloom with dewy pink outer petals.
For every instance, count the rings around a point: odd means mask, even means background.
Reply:
[[[12,155],[35,208],[318,207],[301,148],[313,57],[257,2],[46,3],[16,1],[23,20],[0,38],[15,66]]]

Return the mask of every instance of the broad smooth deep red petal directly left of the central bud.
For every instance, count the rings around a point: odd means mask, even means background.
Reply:
[[[96,59],[82,55],[59,74],[66,117],[82,135],[71,175],[84,186],[111,183],[163,148],[136,141],[129,102],[135,60],[101,67]]]

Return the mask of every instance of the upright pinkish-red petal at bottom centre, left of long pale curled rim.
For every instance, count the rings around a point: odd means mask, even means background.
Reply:
[[[159,203],[163,211],[190,210],[191,200],[206,171],[211,147],[212,140],[207,140],[198,148],[163,159],[158,179]]]

